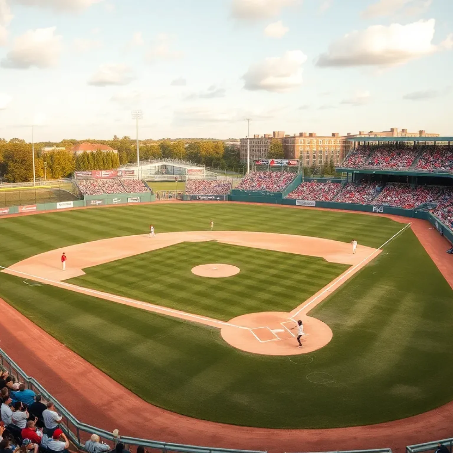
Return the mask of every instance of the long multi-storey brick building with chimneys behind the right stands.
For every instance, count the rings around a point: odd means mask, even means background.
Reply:
[[[277,139],[282,142],[285,159],[303,159],[304,166],[328,164],[333,159],[333,163],[339,165],[349,152],[347,139],[351,137],[439,137],[439,134],[426,134],[424,130],[411,133],[407,129],[399,131],[398,128],[341,136],[337,132],[332,135],[317,135],[315,132],[285,135],[283,131],[276,131],[272,135],[254,135],[250,138],[250,160],[266,159],[270,143]],[[241,139],[241,161],[247,161],[247,139]]]

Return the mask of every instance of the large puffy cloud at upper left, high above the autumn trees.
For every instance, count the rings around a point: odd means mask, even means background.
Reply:
[[[50,27],[26,31],[14,40],[0,66],[15,69],[55,66],[63,49],[63,37],[56,35],[55,30],[56,27]]]

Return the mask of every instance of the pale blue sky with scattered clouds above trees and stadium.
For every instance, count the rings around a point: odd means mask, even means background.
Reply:
[[[0,137],[453,135],[452,0],[0,0]]]

